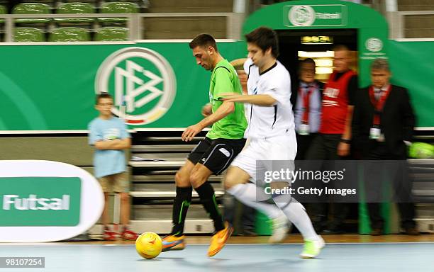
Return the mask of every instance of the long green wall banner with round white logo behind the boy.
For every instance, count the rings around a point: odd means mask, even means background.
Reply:
[[[237,42],[218,49],[228,60],[245,56]],[[85,130],[98,91],[116,98],[130,128],[185,128],[208,102],[211,73],[188,41],[4,45],[0,58],[0,130]]]

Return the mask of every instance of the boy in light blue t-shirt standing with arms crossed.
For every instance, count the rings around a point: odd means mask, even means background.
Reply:
[[[125,150],[131,147],[130,135],[123,120],[111,114],[113,98],[102,93],[96,96],[95,108],[99,116],[89,123],[89,145],[95,147],[94,176],[104,191],[104,239],[115,240],[116,232],[109,229],[109,193],[118,193],[121,198],[121,238],[137,239],[137,234],[128,229],[130,220],[130,196],[126,174]]]

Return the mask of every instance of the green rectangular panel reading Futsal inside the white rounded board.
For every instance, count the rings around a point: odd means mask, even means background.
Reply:
[[[78,177],[0,177],[0,226],[77,226]]]

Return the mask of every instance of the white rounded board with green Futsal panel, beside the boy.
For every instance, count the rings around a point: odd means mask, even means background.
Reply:
[[[82,234],[101,216],[98,181],[70,164],[0,161],[0,242],[51,242]]]

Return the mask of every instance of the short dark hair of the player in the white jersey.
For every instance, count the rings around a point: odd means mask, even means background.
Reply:
[[[257,47],[260,47],[262,51],[267,51],[271,47],[272,56],[279,56],[279,40],[277,39],[277,33],[271,28],[261,26],[256,28],[252,32],[245,35],[247,42],[254,43]]]

